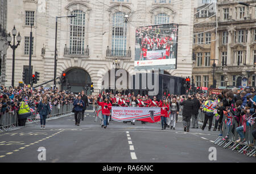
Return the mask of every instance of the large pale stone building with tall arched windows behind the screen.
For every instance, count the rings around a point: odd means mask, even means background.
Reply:
[[[65,72],[72,91],[94,82],[94,92],[98,92],[103,74],[115,67],[114,60],[118,60],[117,68],[130,73],[134,68],[135,28],[151,24],[180,24],[177,69],[165,72],[182,77],[192,74],[195,1],[10,0],[9,3],[8,18],[14,20],[9,20],[7,28],[11,30],[15,24],[22,35],[20,47],[16,49],[15,86],[22,81],[22,72],[28,68],[31,24],[32,72],[40,72],[38,84],[53,79],[55,17],[68,15],[77,18],[57,18],[57,77]],[[9,51],[8,85],[11,83],[11,57]],[[53,82],[49,85],[53,86]]]

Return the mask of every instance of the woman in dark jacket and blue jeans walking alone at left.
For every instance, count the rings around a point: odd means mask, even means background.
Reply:
[[[40,101],[38,105],[38,113],[40,115],[41,129],[46,129],[46,117],[51,113],[51,107],[47,100],[47,96],[43,97],[43,100]]]

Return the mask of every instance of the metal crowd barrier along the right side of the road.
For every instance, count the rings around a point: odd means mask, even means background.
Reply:
[[[236,140],[240,138],[237,132],[237,121],[233,118],[232,125],[228,125],[227,123],[225,123],[225,119],[227,118],[224,115],[222,119],[222,136],[218,136],[218,138],[214,141],[214,144],[223,148],[228,148],[232,151],[236,150],[238,151],[238,153],[243,153],[247,156],[253,156],[254,154],[256,154],[256,144],[253,135],[251,134],[255,130],[255,123],[254,125],[246,124],[246,132],[243,132],[243,134],[245,135],[245,142],[241,143],[236,142]],[[229,139],[224,138],[227,135]]]

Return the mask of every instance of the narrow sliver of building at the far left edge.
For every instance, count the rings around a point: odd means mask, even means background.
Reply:
[[[7,43],[7,0],[0,0],[0,83],[6,82]]]

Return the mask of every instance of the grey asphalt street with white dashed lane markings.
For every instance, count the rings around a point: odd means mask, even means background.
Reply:
[[[214,162],[256,162],[213,144],[216,131],[183,131],[181,118],[176,130],[161,130],[159,123],[135,122],[135,125],[111,121],[106,129],[94,122],[92,111],[85,112],[80,126],[72,115],[0,133],[0,163],[4,162],[212,162],[209,148],[216,147]],[[39,147],[46,148],[46,160],[39,161]]]

